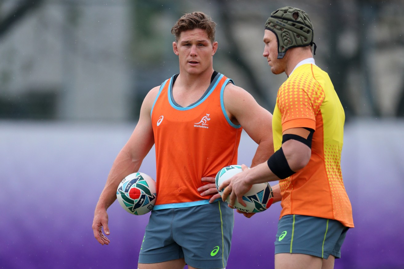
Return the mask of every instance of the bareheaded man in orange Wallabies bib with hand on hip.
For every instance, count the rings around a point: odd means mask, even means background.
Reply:
[[[93,231],[109,244],[107,208],[119,182],[138,171],[155,144],[157,200],[139,253],[139,269],[225,268],[234,225],[215,175],[237,164],[242,129],[258,144],[252,165],[273,153],[272,115],[245,90],[213,69],[215,23],[204,13],[183,15],[171,32],[179,74],[150,90],[139,122],[108,175]]]

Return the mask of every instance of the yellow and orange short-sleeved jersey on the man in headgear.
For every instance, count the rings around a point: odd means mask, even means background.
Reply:
[[[274,149],[282,132],[296,127],[314,129],[309,163],[279,181],[284,215],[335,219],[353,227],[351,202],[341,173],[345,113],[328,74],[314,64],[298,66],[281,85],[272,128]]]

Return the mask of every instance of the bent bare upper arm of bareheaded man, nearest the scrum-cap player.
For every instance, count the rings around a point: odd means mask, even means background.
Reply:
[[[224,104],[229,119],[240,124],[248,136],[258,144],[251,167],[267,161],[274,153],[272,114],[240,87],[229,83],[224,91]]]

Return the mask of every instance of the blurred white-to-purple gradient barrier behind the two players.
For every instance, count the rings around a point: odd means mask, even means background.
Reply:
[[[0,121],[0,268],[137,268],[149,214],[134,216],[118,202],[108,210],[109,246],[91,224],[112,162],[135,123]],[[350,121],[343,176],[355,228],[336,269],[404,268],[404,124]],[[256,144],[243,133],[239,164]],[[154,148],[141,172],[155,178]],[[280,204],[246,219],[235,215],[227,268],[273,268]]]

